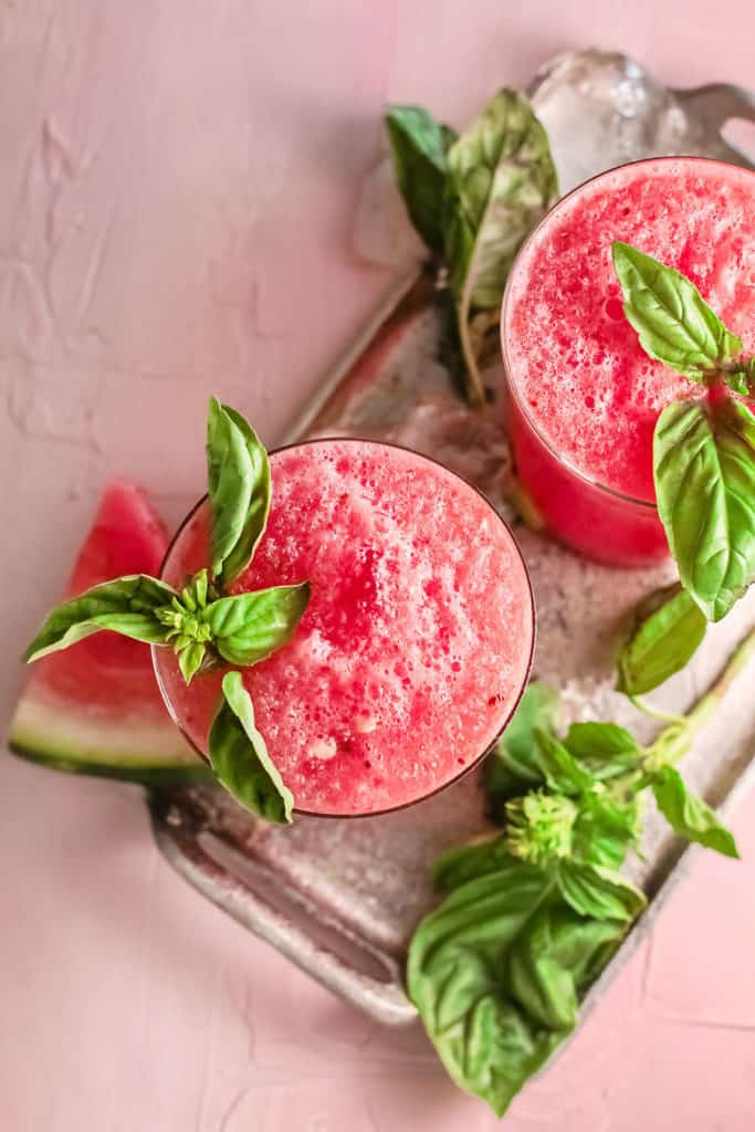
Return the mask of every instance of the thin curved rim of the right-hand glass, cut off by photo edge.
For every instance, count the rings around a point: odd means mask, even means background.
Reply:
[[[526,405],[524,404],[520,395],[520,392],[516,388],[516,381],[514,380],[513,370],[509,365],[508,348],[506,341],[507,340],[506,325],[508,321],[509,308],[512,305],[514,281],[525,251],[530,248],[530,246],[540,234],[541,229],[546,228],[550,223],[551,218],[556,215],[556,213],[563,206],[566,206],[572,200],[572,197],[582,192],[583,189],[586,189],[590,185],[593,185],[595,181],[600,181],[604,177],[610,177],[612,173],[616,173],[621,169],[635,169],[638,165],[668,165],[668,164],[679,164],[679,163],[695,164],[695,165],[697,164],[719,165],[723,166],[724,169],[739,170],[741,173],[755,178],[755,169],[747,169],[744,165],[735,165],[733,162],[721,161],[718,157],[696,157],[694,154],[683,154],[679,156],[666,155],[658,157],[642,157],[640,161],[628,161],[625,162],[624,164],[612,165],[610,169],[604,169],[600,173],[594,173],[592,177],[589,177],[585,181],[582,181],[580,185],[575,185],[575,187],[573,189],[569,189],[569,191],[565,194],[563,197],[559,197],[559,199],[548,209],[546,215],[532,229],[527,238],[522,243],[522,247],[516,252],[516,258],[512,265],[511,272],[508,273],[508,278],[506,280],[504,299],[500,305],[499,337],[500,337],[500,352],[504,360],[504,372],[506,375],[506,388],[508,389],[509,395],[515,402],[516,408],[522,413],[525,421],[527,422],[534,435],[538,437],[542,446],[546,448],[548,454],[552,456],[554,460],[558,461],[559,464],[563,464],[564,468],[567,468],[569,472],[572,472],[574,475],[583,480],[590,487],[595,488],[598,491],[602,491],[606,495],[611,496],[614,499],[619,499],[621,503],[628,503],[634,505],[635,507],[642,507],[647,512],[653,512],[655,514],[658,514],[658,505],[654,499],[653,500],[638,499],[636,496],[628,495],[626,491],[619,491],[618,488],[611,488],[607,483],[602,483],[600,480],[593,478],[592,475],[589,475],[581,468],[577,468],[577,465],[573,463],[573,461],[568,460],[563,453],[558,452],[557,448],[554,446],[552,441],[550,441],[543,435],[541,428],[539,427],[538,422],[533,419],[532,414],[529,412]]]

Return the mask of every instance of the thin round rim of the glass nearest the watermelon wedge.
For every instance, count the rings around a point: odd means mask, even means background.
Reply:
[[[328,818],[328,820],[345,821],[348,818],[351,820],[351,818],[384,817],[384,816],[386,816],[388,814],[397,814],[398,812],[401,812],[403,809],[409,809],[411,806],[417,806],[417,805],[419,805],[422,801],[428,801],[430,798],[435,798],[437,795],[441,794],[444,790],[447,790],[449,787],[455,786],[457,782],[461,782],[461,780],[463,778],[465,778],[467,774],[470,774],[473,770],[475,770],[480,765],[480,763],[486,758],[486,756],[491,753],[491,751],[494,749],[494,747],[496,746],[496,744],[500,739],[501,735],[504,734],[504,731],[506,730],[506,728],[511,723],[512,719],[514,718],[514,713],[516,712],[520,703],[522,702],[522,696],[524,695],[524,692],[525,692],[525,689],[527,687],[527,684],[530,683],[530,677],[532,675],[532,663],[533,663],[533,660],[534,660],[535,643],[537,643],[538,621],[537,621],[537,610],[535,610],[535,602],[534,602],[534,592],[533,592],[533,589],[532,589],[532,580],[530,577],[530,571],[527,569],[527,564],[526,564],[526,561],[524,559],[524,555],[522,554],[522,549],[521,549],[517,540],[514,538],[514,534],[512,532],[511,526],[508,525],[508,523],[506,522],[506,520],[503,517],[503,515],[500,515],[498,513],[498,511],[496,511],[496,508],[494,507],[494,505],[490,501],[490,499],[488,499],[488,497],[484,494],[484,491],[481,491],[480,488],[475,483],[472,483],[471,480],[466,479],[465,475],[460,475],[458,472],[453,471],[446,464],[443,464],[439,460],[435,460],[435,457],[432,457],[432,456],[427,456],[423,452],[418,452],[415,448],[410,448],[407,445],[394,444],[393,441],[388,441],[388,440],[376,440],[376,439],[372,439],[370,437],[361,437],[361,436],[327,436],[326,435],[326,436],[311,437],[311,438],[308,438],[306,440],[293,440],[290,444],[282,444],[277,448],[271,448],[271,451],[268,453],[268,456],[275,456],[275,455],[278,455],[282,452],[289,452],[292,448],[303,448],[303,447],[309,447],[310,445],[333,444],[333,443],[369,444],[369,445],[374,445],[376,447],[394,448],[394,449],[396,449],[398,452],[409,453],[412,456],[417,456],[420,460],[427,461],[429,464],[435,464],[436,468],[441,469],[441,471],[444,471],[447,475],[451,475],[454,479],[461,480],[462,483],[465,483],[469,488],[471,488],[474,492],[477,492],[477,495],[483,500],[483,503],[488,506],[488,508],[490,509],[490,512],[492,513],[492,515],[496,517],[497,522],[500,523],[500,525],[505,529],[506,533],[508,534],[508,538],[509,538],[511,543],[512,543],[512,546],[513,546],[513,548],[515,550],[516,557],[517,557],[517,559],[520,561],[520,565],[521,565],[523,574],[524,574],[524,581],[526,582],[526,592],[527,592],[527,595],[529,595],[529,606],[530,606],[530,617],[529,617],[529,624],[530,624],[530,652],[529,652],[527,661],[526,661],[526,664],[525,664],[525,668],[524,668],[524,675],[523,675],[523,679],[522,679],[522,685],[521,685],[521,687],[520,687],[520,689],[518,689],[515,698],[513,700],[513,702],[512,702],[512,704],[511,704],[511,706],[509,706],[509,709],[508,709],[508,711],[506,713],[506,718],[504,719],[504,722],[503,722],[501,727],[498,729],[498,731],[492,737],[492,739],[490,740],[490,743],[488,744],[488,746],[484,748],[484,751],[482,751],[479,755],[477,755],[466,766],[463,766],[458,771],[458,773],[454,774],[453,778],[451,778],[447,781],[443,782],[440,786],[435,787],[428,794],[423,794],[419,798],[412,798],[410,801],[402,801],[402,803],[400,803],[396,806],[386,806],[383,809],[369,809],[369,811],[364,811],[363,813],[360,812],[360,813],[357,813],[357,814],[353,814],[353,813],[320,813],[319,811],[316,811],[316,809],[303,809],[303,808],[297,806],[295,805],[295,800],[294,800],[293,815],[295,817],[321,817],[321,818]],[[208,497],[207,494],[203,495],[201,498],[198,499],[197,503],[195,503],[194,506],[189,509],[189,512],[183,516],[183,518],[179,523],[178,528],[173,532],[173,535],[172,535],[172,538],[171,538],[171,540],[170,540],[170,542],[168,544],[168,549],[165,550],[165,554],[163,556],[163,560],[162,560],[162,563],[160,565],[160,577],[161,578],[163,578],[163,576],[164,576],[165,567],[168,566],[168,563],[170,560],[170,557],[171,557],[171,554],[173,551],[173,548],[175,547],[175,543],[178,542],[178,540],[180,539],[181,534],[183,533],[183,531],[186,530],[186,528],[188,526],[188,524],[191,522],[191,520],[194,518],[194,516],[197,514],[197,512],[201,507],[205,506],[205,504],[207,503],[208,498],[209,497]],[[162,675],[161,675],[161,671],[160,671],[158,660],[157,660],[157,658],[160,655],[160,651],[161,651],[162,648],[164,648],[164,646],[156,645],[156,644],[151,644],[149,645],[149,651],[151,651],[151,655],[152,655],[152,667],[153,667],[153,671],[155,674],[155,679],[157,680],[157,687],[160,689],[160,694],[162,696],[162,700],[163,700],[163,703],[165,705],[165,709],[166,709],[166,711],[168,711],[171,720],[173,721],[173,723],[175,724],[175,727],[178,728],[178,730],[181,732],[181,735],[183,736],[183,738],[187,740],[187,743],[189,744],[189,746],[197,753],[197,755],[199,755],[199,757],[203,760],[203,762],[209,762],[209,758],[208,758],[206,752],[201,751],[201,748],[194,741],[194,739],[191,738],[191,736],[187,732],[186,728],[183,727],[183,724],[178,719],[178,715],[177,715],[177,713],[175,713],[175,711],[173,709],[173,704],[172,704],[171,698],[170,698],[170,696],[168,694],[168,691],[165,688],[165,684],[163,681],[163,678],[162,678]],[[230,667],[232,668],[233,666],[230,666]]]

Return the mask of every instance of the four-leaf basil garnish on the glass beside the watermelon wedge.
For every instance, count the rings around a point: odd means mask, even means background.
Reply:
[[[255,430],[215,397],[207,420],[207,480],[209,571],[200,569],[181,591],[145,574],[96,585],[48,616],[24,659],[40,660],[109,629],[173,649],[190,684],[221,661],[248,667],[286,644],[307,609],[309,583],[224,592],[247,568],[265,532],[271,472]],[[223,679],[209,747],[218,781],[238,800],[269,821],[291,821],[291,794],[255,727],[251,700],[238,672]]]

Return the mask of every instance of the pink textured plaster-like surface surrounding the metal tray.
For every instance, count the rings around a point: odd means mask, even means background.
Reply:
[[[753,85],[719,0],[3,0],[3,718],[100,486],[171,518],[212,389],[274,441],[391,288],[354,250],[386,100],[463,123],[557,51]],[[755,797],[512,1132],[755,1126]],[[2,1132],[486,1132],[380,1030],[175,877],[136,790],[0,758]]]

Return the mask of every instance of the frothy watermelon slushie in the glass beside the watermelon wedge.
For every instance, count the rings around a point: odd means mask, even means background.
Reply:
[[[242,669],[295,811],[355,816],[426,798],[469,771],[526,684],[534,612],[506,524],[471,484],[392,445],[312,440],[271,454],[265,538],[230,592],[309,580],[293,640]],[[163,577],[208,563],[208,507]],[[153,649],[174,721],[206,756],[225,669],[183,683]]]

